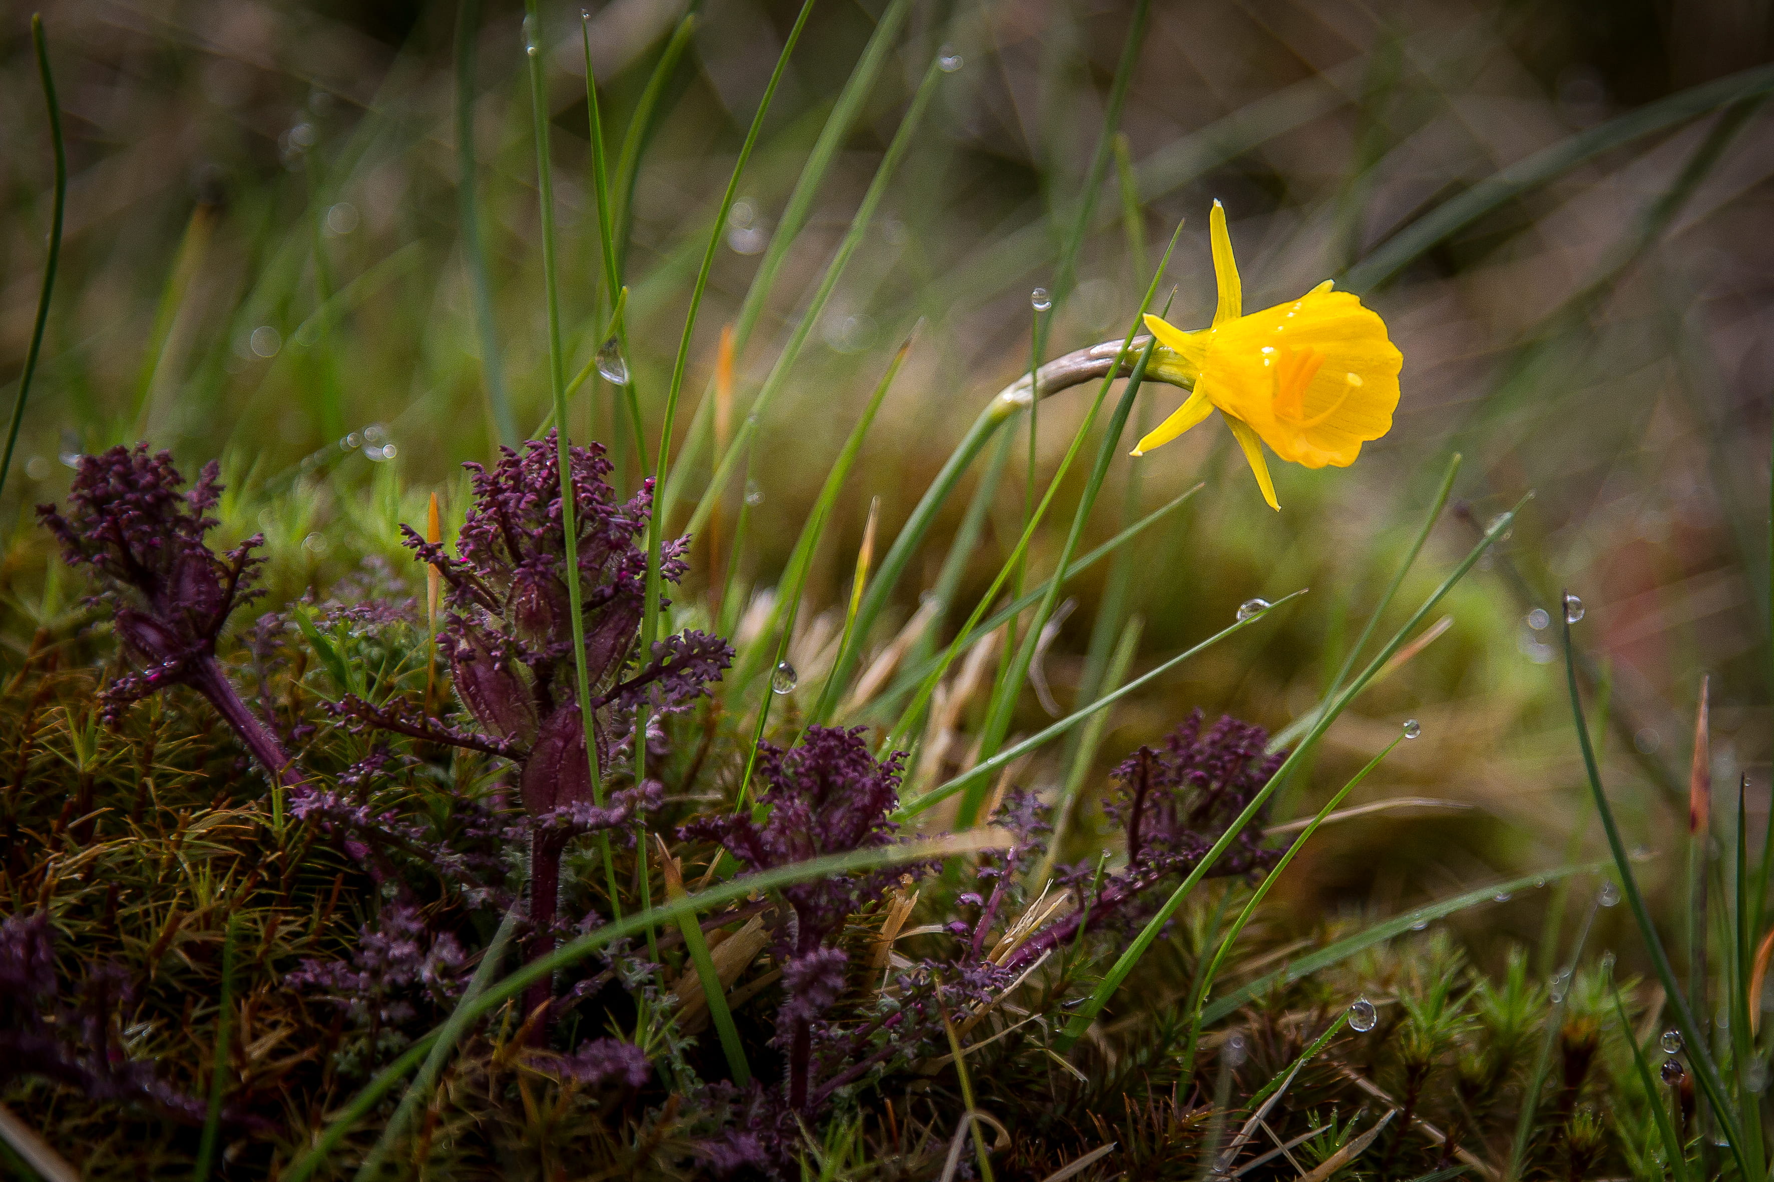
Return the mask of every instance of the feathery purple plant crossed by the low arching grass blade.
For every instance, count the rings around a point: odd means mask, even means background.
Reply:
[[[809,727],[800,746],[757,748],[757,774],[768,785],[759,797],[761,820],[747,815],[710,817],[679,831],[685,840],[711,840],[752,870],[784,867],[823,854],[887,845],[899,803],[894,753],[876,760],[864,728]],[[844,918],[885,890],[899,872],[816,879],[782,888],[789,920],[779,941],[786,999],[777,1014],[775,1042],[788,1053],[788,1106],[809,1111],[814,1069],[814,1023],[844,991],[846,957],[836,946]]]

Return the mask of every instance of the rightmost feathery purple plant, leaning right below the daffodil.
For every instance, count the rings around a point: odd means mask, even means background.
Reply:
[[[1268,732],[1261,727],[1231,716],[1206,734],[1201,727],[1203,714],[1194,711],[1162,748],[1141,746],[1116,767],[1118,790],[1103,803],[1103,813],[1126,836],[1126,867],[1095,886],[1089,865],[1063,872],[1059,881],[1086,906],[1029,939],[1006,960],[1008,968],[1022,968],[1073,939],[1084,923],[1134,927],[1150,918],[1164,902],[1155,888],[1190,874],[1286,758],[1286,751],[1265,751]],[[1276,865],[1281,851],[1263,847],[1265,819],[1267,806],[1206,877],[1256,874]]]

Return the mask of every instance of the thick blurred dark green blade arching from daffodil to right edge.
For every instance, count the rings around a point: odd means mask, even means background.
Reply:
[[[1584,161],[1721,106],[1770,92],[1774,92],[1774,66],[1760,66],[1646,103],[1588,131],[1579,131],[1485,177],[1417,218],[1350,268],[1343,276],[1343,287],[1355,292],[1371,291],[1492,209],[1540,188]]]

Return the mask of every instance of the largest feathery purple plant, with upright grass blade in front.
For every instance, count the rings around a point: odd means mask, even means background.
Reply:
[[[651,480],[626,503],[605,477],[603,448],[571,448],[585,673],[596,780],[585,753],[573,663],[573,620],[566,579],[566,532],[561,468],[553,432],[523,452],[500,448],[491,471],[474,473],[475,503],[458,540],[458,555],[404,528],[420,562],[449,583],[449,618],[440,645],[456,695],[474,728],[451,727],[403,702],[381,705],[346,695],[339,711],[373,727],[433,743],[498,755],[518,769],[518,796],[530,819],[532,957],[553,948],[561,854],[575,835],[626,826],[656,803],[658,785],[644,783],[603,796],[633,743],[635,716],[685,711],[733,659],[718,636],[687,631],[639,654],[646,588],[640,537],[653,509]],[[685,571],[688,539],[662,546],[660,574]],[[548,998],[538,985],[530,1008]]]

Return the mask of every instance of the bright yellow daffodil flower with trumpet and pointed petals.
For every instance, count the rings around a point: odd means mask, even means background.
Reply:
[[[1139,441],[1134,455],[1169,443],[1219,411],[1251,461],[1263,500],[1279,510],[1263,445],[1306,468],[1348,468],[1362,443],[1393,429],[1403,354],[1387,338],[1378,314],[1361,307],[1359,296],[1330,291],[1330,280],[1293,303],[1245,315],[1219,202],[1210,222],[1219,280],[1213,324],[1187,333],[1157,315],[1146,317],[1146,328],[1162,346],[1151,362],[1153,376],[1192,393]]]

